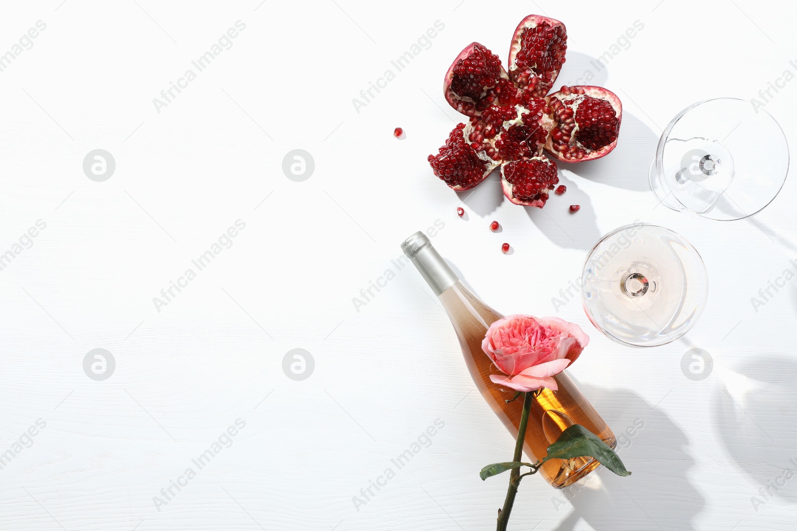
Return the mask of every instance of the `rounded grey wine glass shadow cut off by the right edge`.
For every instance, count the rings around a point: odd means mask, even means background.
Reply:
[[[714,396],[714,422],[741,470],[760,488],[752,511],[771,498],[797,504],[797,362],[766,355],[725,370]]]

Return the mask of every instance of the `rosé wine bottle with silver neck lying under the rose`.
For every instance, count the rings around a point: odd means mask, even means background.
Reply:
[[[504,316],[482,303],[460,283],[457,275],[454,275],[423,232],[415,232],[405,240],[402,250],[446,308],[457,332],[465,364],[468,365],[470,376],[476,382],[481,396],[516,439],[523,399],[512,400],[515,396],[513,389],[503,388],[490,381],[490,374],[501,374],[501,371],[481,349],[481,341],[490,324]],[[529,462],[536,463],[548,455],[548,446],[573,424],[581,424],[614,448],[617,441],[611,428],[595,412],[595,408],[584,398],[579,388],[565,373],[559,373],[554,378],[559,389],[552,391],[544,388],[532,402],[524,441],[524,451]],[[511,450],[507,441],[506,455]],[[493,455],[489,459],[500,461],[501,455]],[[552,486],[560,489],[583,478],[599,464],[591,457],[551,459],[540,468],[540,474]]]

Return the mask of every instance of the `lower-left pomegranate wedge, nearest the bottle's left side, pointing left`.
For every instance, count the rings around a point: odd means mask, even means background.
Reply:
[[[434,174],[455,190],[473,188],[498,166],[498,162],[487,162],[478,157],[468,143],[469,130],[469,126],[458,123],[439,153],[426,158]]]

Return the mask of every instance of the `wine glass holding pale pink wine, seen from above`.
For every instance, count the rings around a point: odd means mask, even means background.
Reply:
[[[709,278],[697,250],[680,234],[638,223],[609,232],[587,255],[584,311],[616,342],[659,346],[700,318]]]

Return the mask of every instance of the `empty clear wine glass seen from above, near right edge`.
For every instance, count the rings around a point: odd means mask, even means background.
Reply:
[[[786,136],[767,111],[717,98],[693,103],[667,125],[649,178],[670,209],[730,221],[769,205],[788,168]]]

